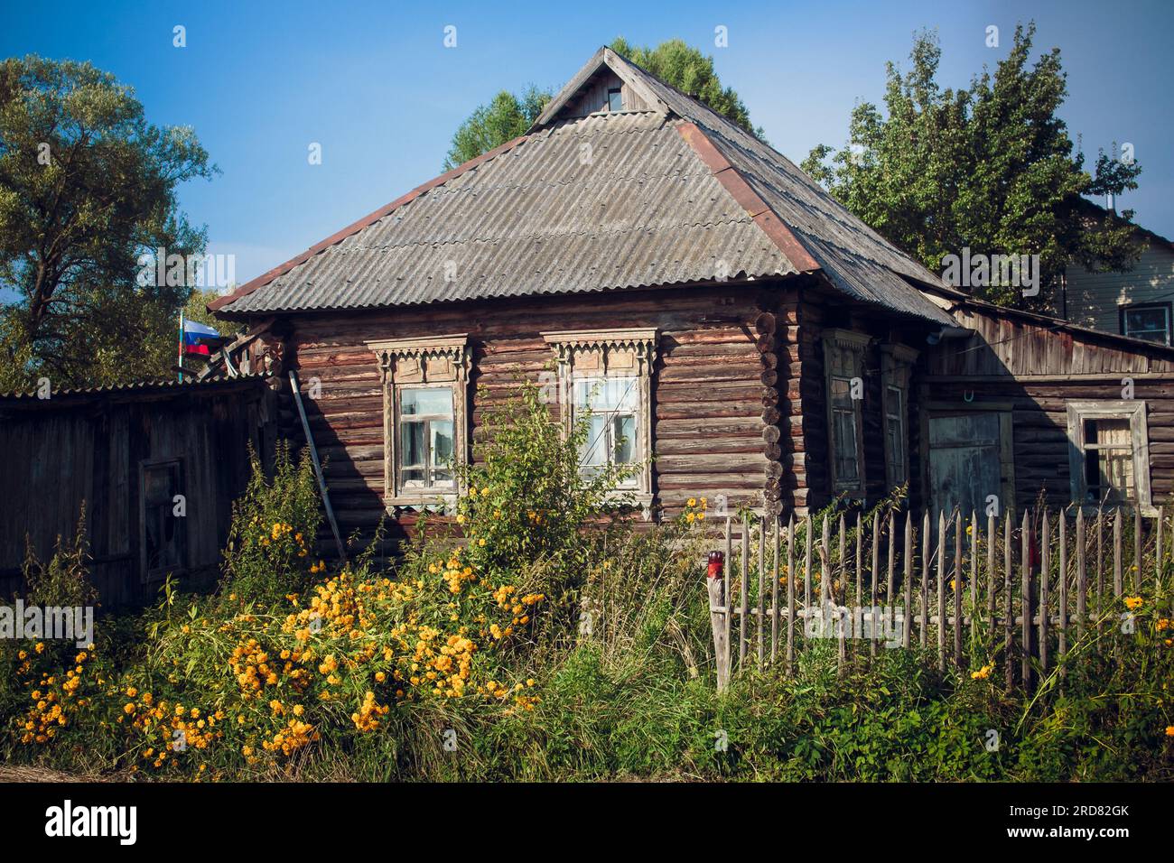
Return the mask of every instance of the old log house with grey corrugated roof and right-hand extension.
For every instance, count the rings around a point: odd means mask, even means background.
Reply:
[[[654,514],[1174,492],[1174,350],[946,285],[607,48],[525,135],[211,308],[255,328],[295,438],[296,371],[343,534],[459,494],[519,378],[591,410],[585,464],[642,465]]]

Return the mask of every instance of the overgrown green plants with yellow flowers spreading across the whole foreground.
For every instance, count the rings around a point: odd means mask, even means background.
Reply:
[[[0,654],[0,754],[176,778],[1174,778],[1170,565],[1114,598],[1105,627],[1070,628],[1031,696],[985,665],[938,673],[932,648],[842,672],[818,639],[794,676],[751,665],[718,695],[707,501],[621,518],[609,480],[578,470],[582,432],[565,439],[533,387],[491,427],[463,473],[459,531],[423,525],[392,572],[369,553],[306,573],[312,472],[288,452],[270,479],[256,466],[215,595],[169,582],[158,607],[104,620],[93,649]],[[32,567],[32,595],[82,599],[81,547]]]

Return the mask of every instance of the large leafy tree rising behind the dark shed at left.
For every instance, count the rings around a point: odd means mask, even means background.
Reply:
[[[0,62],[0,389],[170,373],[191,285],[141,284],[140,256],[202,252],[176,187],[215,173],[190,128],[148,123],[112,74]]]

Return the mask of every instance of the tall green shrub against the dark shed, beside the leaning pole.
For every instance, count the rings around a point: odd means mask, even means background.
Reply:
[[[225,588],[248,601],[271,602],[301,591],[311,568],[323,568],[312,557],[322,521],[317,478],[310,451],[295,461],[284,441],[276,449],[271,477],[255,452],[250,460],[249,485],[232,505]]]

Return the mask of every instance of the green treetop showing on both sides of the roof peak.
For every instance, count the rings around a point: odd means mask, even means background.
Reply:
[[[755,129],[750,124],[750,115],[737,93],[729,87],[722,87],[717,73],[714,72],[711,56],[690,48],[680,39],[661,42],[655,48],[637,48],[629,45],[623,36],[619,36],[609,47],[616,54],[700,99],[718,114],[762,137],[762,129]],[[525,134],[553,97],[553,92],[538,89],[533,85],[520,95],[501,90],[488,104],[478,107],[457,128],[457,134],[452,136],[452,147],[445,156],[444,169],[451,170]]]

